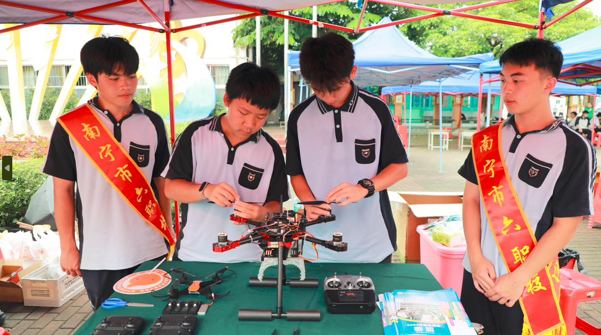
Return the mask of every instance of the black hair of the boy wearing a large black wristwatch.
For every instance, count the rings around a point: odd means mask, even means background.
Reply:
[[[335,32],[307,37],[299,55],[303,79],[318,90],[335,91],[355,64],[353,43]]]

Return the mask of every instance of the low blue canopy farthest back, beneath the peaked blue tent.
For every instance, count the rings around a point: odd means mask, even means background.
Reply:
[[[488,76],[484,76],[487,79]],[[442,92],[452,93],[465,93],[465,94],[478,94],[480,74],[478,73],[466,73],[460,76],[447,78],[442,80]],[[413,86],[413,93],[436,93],[439,92],[438,82],[423,82],[419,85]],[[490,92],[500,94],[501,93],[501,82],[493,82],[491,85]],[[409,92],[410,86],[388,86],[382,88],[382,94],[397,94],[400,92]],[[482,85],[483,94],[488,92],[488,83]],[[596,94],[597,88],[595,86],[573,86],[566,83],[557,83],[552,94],[562,95],[583,95],[583,94]]]

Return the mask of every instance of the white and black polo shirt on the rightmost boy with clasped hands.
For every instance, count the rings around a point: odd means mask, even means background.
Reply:
[[[554,217],[593,214],[595,149],[563,117],[541,130],[520,134],[511,116],[501,129],[501,145],[511,184],[537,240],[551,228]],[[459,174],[478,184],[471,151]],[[480,217],[482,253],[495,266],[497,277],[507,274],[481,200]],[[462,265],[471,272],[467,253]]]

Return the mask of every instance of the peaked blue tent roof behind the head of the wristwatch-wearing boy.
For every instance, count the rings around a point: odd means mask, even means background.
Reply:
[[[391,20],[384,17],[379,24],[388,22]],[[482,62],[493,59],[492,53],[457,58],[432,55],[404,37],[395,26],[365,32],[353,47],[355,65],[359,67],[354,81],[359,86],[417,85],[477,69]],[[299,67],[299,54],[290,52],[290,67]]]

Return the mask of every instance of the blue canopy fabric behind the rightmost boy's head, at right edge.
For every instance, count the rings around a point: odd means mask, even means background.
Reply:
[[[587,63],[596,67],[601,67],[601,25],[581,34],[566,38],[566,40],[557,43],[564,55],[563,67],[570,65]],[[501,67],[499,61],[490,61],[480,64],[480,71],[483,73],[499,73]],[[563,76],[572,74],[584,74],[588,71],[580,69],[566,71]],[[583,76],[582,78],[599,78],[599,74],[592,76]]]

